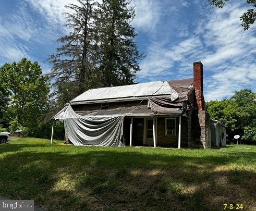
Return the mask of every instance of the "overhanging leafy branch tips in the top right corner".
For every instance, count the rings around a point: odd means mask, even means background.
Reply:
[[[218,8],[223,8],[228,1],[229,0],[208,0],[210,4]],[[256,0],[247,0],[247,3],[252,4],[252,7],[248,9],[246,13],[243,13],[242,16],[240,16],[243,30],[248,30],[256,20]]]

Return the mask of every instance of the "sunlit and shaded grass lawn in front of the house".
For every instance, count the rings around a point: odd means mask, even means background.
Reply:
[[[48,210],[256,210],[256,146],[221,150],[0,144],[0,195]],[[247,149],[246,147],[250,147]]]

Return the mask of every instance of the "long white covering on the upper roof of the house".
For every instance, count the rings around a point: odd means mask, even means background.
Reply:
[[[168,81],[153,81],[147,83],[138,83],[124,86],[112,86],[88,90],[73,100],[86,103],[87,101],[108,101],[109,99],[127,100],[127,98],[139,98],[141,96],[170,95],[175,100],[178,97],[177,92],[170,87]]]

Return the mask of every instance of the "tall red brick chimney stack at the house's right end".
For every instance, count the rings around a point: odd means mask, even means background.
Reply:
[[[198,110],[205,110],[203,97],[203,64],[201,61],[193,63],[194,66],[194,90],[196,92]]]

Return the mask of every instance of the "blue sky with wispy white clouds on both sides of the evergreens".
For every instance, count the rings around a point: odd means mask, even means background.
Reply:
[[[66,34],[65,5],[76,0],[0,0],[0,66],[27,57],[38,61],[55,53]],[[132,0],[139,60],[136,82],[193,77],[193,62],[203,63],[204,98],[222,100],[235,91],[256,91],[256,24],[248,31],[239,16],[246,1],[232,0],[218,9],[206,0]]]

